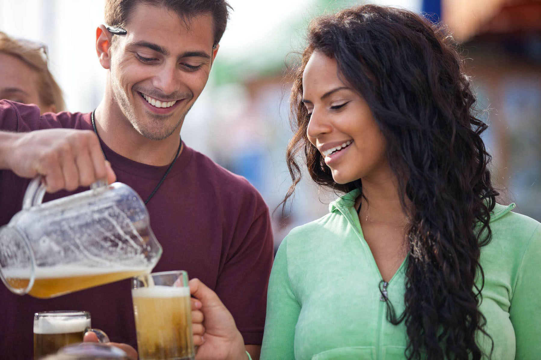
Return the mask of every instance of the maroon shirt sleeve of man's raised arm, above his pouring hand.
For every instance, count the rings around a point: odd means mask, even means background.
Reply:
[[[0,128],[16,132],[48,128],[90,130],[90,114],[67,111],[41,114],[37,105],[0,100]]]

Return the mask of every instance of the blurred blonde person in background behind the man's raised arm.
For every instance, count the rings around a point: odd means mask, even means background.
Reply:
[[[36,104],[41,113],[64,110],[62,90],[47,66],[47,47],[0,31],[0,99]]]

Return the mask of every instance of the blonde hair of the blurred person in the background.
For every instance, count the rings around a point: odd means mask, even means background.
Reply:
[[[42,49],[38,46],[27,45],[26,40],[17,40],[0,31],[0,52],[15,56],[37,72],[37,92],[42,105],[55,105],[56,112],[64,110],[64,99],[60,86],[52,77],[47,59],[43,57]]]

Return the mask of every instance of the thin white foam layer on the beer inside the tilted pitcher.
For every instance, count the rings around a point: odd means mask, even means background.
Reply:
[[[120,265],[108,266],[104,268],[80,265],[57,265],[50,267],[37,267],[35,279],[56,279],[60,277],[72,276],[94,276],[111,273],[122,273],[124,271],[150,273],[150,270],[150,268],[134,268]],[[29,269],[5,269],[2,271],[6,279],[28,279],[28,275],[30,273]]]

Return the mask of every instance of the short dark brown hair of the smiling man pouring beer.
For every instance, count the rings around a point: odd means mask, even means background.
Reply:
[[[163,6],[174,10],[182,18],[209,13],[214,18],[213,45],[220,42],[226,31],[229,9],[233,9],[225,0],[107,0],[105,1],[105,22],[107,25],[122,28],[128,22],[130,11],[140,3]]]

